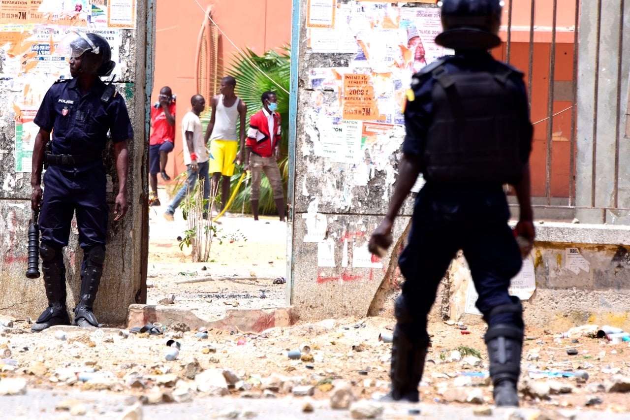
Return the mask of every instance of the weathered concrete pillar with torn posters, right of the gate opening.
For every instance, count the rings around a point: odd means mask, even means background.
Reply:
[[[365,8],[372,7],[371,3],[362,4]],[[315,33],[309,35],[310,29],[306,27],[309,2],[294,1],[292,52],[296,54],[293,69],[296,76],[292,80],[292,101],[297,104],[297,112],[292,149],[295,177],[290,185],[294,202],[289,203],[293,216],[290,269],[291,301],[303,319],[364,316],[379,313],[382,308],[391,309],[387,293],[395,289],[392,284],[399,277],[396,255],[402,244],[392,247],[386,257],[378,260],[367,251],[367,242],[386,213],[393,191],[404,138],[404,127],[396,114],[400,107],[394,103],[393,96],[394,90],[404,93],[402,86],[408,81],[401,81],[398,74],[385,74],[382,66],[379,67],[384,62],[367,64],[363,61],[360,68],[352,65],[362,54],[354,36],[344,30],[343,25],[353,18],[352,25],[369,27],[362,4],[340,2],[340,8],[334,11],[335,21],[340,22],[340,26],[335,24],[335,30],[323,29],[329,32],[311,37]],[[326,20],[326,13],[332,11],[328,9],[320,14],[318,9],[312,9],[309,16],[312,20]],[[416,15],[413,16],[415,19]],[[436,22],[438,25],[439,20]],[[316,28],[317,25],[311,22],[309,26]],[[360,32],[357,27],[353,30]],[[407,32],[403,32],[401,39],[406,43]],[[326,42],[324,38],[329,45],[336,46],[328,52],[322,50],[326,48],[322,44],[318,44],[319,50],[312,48],[316,42]],[[376,45],[375,38],[372,42],[375,54],[386,47]],[[391,45],[391,48],[398,47]],[[389,50],[387,53],[394,54]],[[348,75],[348,83],[350,78],[355,78],[352,83],[365,83],[355,95],[370,96],[370,89],[382,89],[377,95],[389,95],[392,102],[382,101],[382,109],[377,110],[365,100],[363,116],[369,118],[357,117],[355,113],[361,112],[358,109],[361,101],[350,110],[350,91],[343,96],[343,74]],[[376,115],[377,112],[382,117]],[[396,121],[393,115],[397,115]],[[408,225],[412,204],[410,197],[396,220],[394,242]],[[391,267],[392,254],[394,266]]]

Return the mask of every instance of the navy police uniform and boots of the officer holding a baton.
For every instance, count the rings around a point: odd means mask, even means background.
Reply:
[[[102,43],[106,44],[105,40]],[[113,62],[105,61],[110,68]],[[81,290],[74,309],[74,324],[99,326],[92,312],[105,262],[109,207],[103,151],[110,132],[114,143],[134,136],[123,98],[97,79],[82,94],[78,78],[52,85],[34,120],[52,131],[48,168],[43,175],[40,209],[42,271],[49,307],[31,330],[67,325],[66,267],[62,248],[68,244],[72,215],[76,213],[79,245],[83,249]]]

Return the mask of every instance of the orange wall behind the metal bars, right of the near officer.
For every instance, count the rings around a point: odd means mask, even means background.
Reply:
[[[556,0],[556,53],[554,54],[554,95],[553,114],[571,107],[570,93],[573,85],[573,58],[575,12],[577,0]],[[507,2],[506,2],[507,3]],[[510,64],[525,73],[525,83],[529,71],[529,38],[531,0],[513,0],[512,6],[512,46]],[[505,61],[507,51],[507,6],[503,8],[501,38],[503,45],[495,49],[496,58]],[[532,173],[532,195],[544,197],[547,185],[547,118],[549,110],[549,71],[551,62],[551,40],[553,27],[553,0],[536,1],[534,9],[534,59],[532,66],[531,115],[534,122],[534,145],[530,156]],[[571,174],[571,110],[553,118],[553,140],[551,142],[551,197],[568,197]]]

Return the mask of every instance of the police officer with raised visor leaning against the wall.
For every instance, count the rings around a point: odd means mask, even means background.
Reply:
[[[102,156],[108,132],[118,175],[114,220],[127,213],[127,141],[133,131],[122,96],[100,79],[115,66],[112,48],[100,35],[83,32],[72,33],[60,50],[64,46],[72,79],[50,86],[34,120],[40,129],[33,147],[31,207],[40,211],[40,256],[48,300],[48,307],[31,327],[34,332],[70,324],[62,249],[68,244],[74,214],[83,263],[73,324],[100,326],[93,305],[105,262],[109,207]]]

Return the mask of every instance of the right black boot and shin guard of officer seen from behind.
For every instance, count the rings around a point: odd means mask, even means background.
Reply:
[[[496,324],[488,327],[485,342],[490,359],[490,377],[494,385],[493,395],[498,407],[518,407],[518,376],[523,350],[522,306],[518,298],[512,305],[497,306],[490,313],[513,313],[515,324]]]

